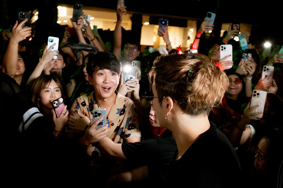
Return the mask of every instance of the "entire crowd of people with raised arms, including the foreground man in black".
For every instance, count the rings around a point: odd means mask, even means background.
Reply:
[[[211,19],[189,48],[197,53],[173,49],[167,28],[160,31],[166,48],[141,52],[139,42],[122,40],[126,13],[117,6],[113,40],[103,41],[81,15],[72,21],[75,35],[66,28],[59,49],[43,44],[41,53],[23,42],[32,32],[22,27],[27,19],[3,29],[6,176],[102,187],[282,187],[283,54],[265,57],[241,30],[208,41]],[[246,50],[233,39],[239,33]],[[220,59],[222,44],[233,45],[233,61]],[[244,53],[252,59],[242,61]],[[142,75],[124,83],[123,68],[134,60]],[[272,79],[262,78],[267,65]],[[253,90],[267,91],[263,112],[253,112]],[[57,117],[52,102],[60,97]],[[107,112],[99,129],[96,109]]]

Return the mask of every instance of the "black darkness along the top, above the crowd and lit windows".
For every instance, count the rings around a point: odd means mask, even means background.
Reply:
[[[19,11],[39,10],[39,19],[36,21],[36,31],[40,35],[52,34],[57,24],[57,3],[74,4],[81,3],[84,6],[108,8],[116,10],[116,0],[30,0],[2,1],[2,16],[0,28],[7,28],[14,24]],[[215,30],[221,29],[221,23],[230,23],[233,19],[239,19],[241,23],[252,24],[251,35],[261,39],[269,39],[271,42],[283,44],[282,37],[282,13],[281,4],[278,1],[251,0],[186,0],[186,1],[156,1],[156,0],[125,0],[127,11],[137,15],[147,14],[152,16],[168,15],[170,18],[198,20],[200,24],[208,11],[216,13]],[[281,15],[280,15],[281,14]],[[42,16],[43,15],[43,16]],[[172,22],[170,22],[172,25]],[[37,32],[36,32],[37,33]],[[45,35],[45,36],[46,36]]]

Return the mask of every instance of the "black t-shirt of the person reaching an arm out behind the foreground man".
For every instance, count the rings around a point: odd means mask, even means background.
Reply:
[[[158,137],[122,144],[125,157],[133,162],[141,162],[141,165],[148,165],[149,181],[159,186],[165,185],[169,163],[173,161],[176,149],[176,140],[168,129]]]

